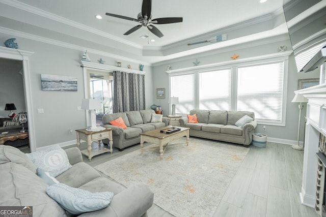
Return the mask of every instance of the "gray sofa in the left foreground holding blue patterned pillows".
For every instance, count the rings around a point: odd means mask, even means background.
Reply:
[[[126,189],[101,176],[83,162],[77,147],[65,150],[72,165],[56,177],[60,183],[90,192],[113,192],[111,203],[103,209],[79,216],[147,216],[153,204],[153,192],[145,183]],[[47,194],[47,183],[36,174],[36,166],[19,149],[0,145],[0,206],[33,206],[33,216],[67,216],[67,213]]]

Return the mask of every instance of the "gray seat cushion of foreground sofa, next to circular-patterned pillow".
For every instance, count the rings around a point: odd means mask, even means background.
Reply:
[[[56,179],[61,183],[78,188],[100,176],[99,172],[97,172],[93,167],[85,162],[79,162],[70,167],[66,172],[58,175]]]

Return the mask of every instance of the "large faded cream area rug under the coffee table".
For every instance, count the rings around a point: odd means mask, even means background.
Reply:
[[[185,138],[172,142],[163,158],[155,144],[95,168],[129,187],[145,182],[154,203],[175,216],[212,216],[249,149],[242,145]]]

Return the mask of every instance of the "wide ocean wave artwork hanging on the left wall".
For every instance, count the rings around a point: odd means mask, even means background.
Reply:
[[[45,91],[77,91],[77,78],[41,74],[41,87]]]

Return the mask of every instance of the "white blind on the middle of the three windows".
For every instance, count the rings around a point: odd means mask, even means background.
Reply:
[[[231,110],[231,69],[199,74],[199,109]]]

